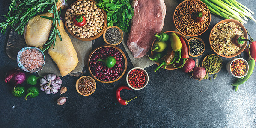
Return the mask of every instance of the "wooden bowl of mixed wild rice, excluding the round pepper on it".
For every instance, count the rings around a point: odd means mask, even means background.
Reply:
[[[237,20],[226,19],[220,21],[210,32],[209,42],[211,49],[217,55],[225,58],[239,55],[247,46],[247,41],[243,46],[237,47],[232,43],[235,35],[243,35],[246,39],[248,38],[246,29]]]

